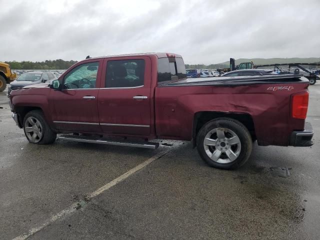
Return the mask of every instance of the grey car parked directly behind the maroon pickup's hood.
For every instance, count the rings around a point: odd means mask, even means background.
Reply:
[[[22,73],[18,78],[16,78],[16,80],[10,83],[8,87],[8,94],[10,94],[12,90],[17,90],[24,86],[44,83],[55,79],[57,79],[57,77],[49,71],[28,71]]]

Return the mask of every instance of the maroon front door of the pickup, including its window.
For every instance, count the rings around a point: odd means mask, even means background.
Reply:
[[[73,67],[62,79],[62,90],[51,91],[52,120],[59,130],[101,132],[97,97],[102,60]]]

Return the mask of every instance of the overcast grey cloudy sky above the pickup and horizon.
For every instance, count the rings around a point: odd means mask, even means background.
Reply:
[[[0,60],[320,57],[320,0],[0,0]]]

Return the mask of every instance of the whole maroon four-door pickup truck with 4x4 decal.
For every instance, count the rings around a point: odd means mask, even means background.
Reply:
[[[172,53],[88,58],[57,80],[13,90],[9,102],[29,142],[59,138],[156,148],[192,140],[209,165],[231,169],[259,145],[310,146],[309,81],[301,74],[187,79]]]

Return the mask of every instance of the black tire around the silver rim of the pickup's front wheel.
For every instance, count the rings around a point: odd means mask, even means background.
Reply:
[[[30,138],[30,134],[28,134],[26,132],[26,120],[29,119],[29,117],[31,117],[31,119],[35,119],[37,121],[39,121],[40,123],[40,128],[41,128],[41,137],[37,137],[36,141],[33,141]],[[35,143],[35,144],[51,144],[55,141],[56,138],[56,133],[52,131],[52,129],[50,128],[50,126],[46,123],[43,113],[41,110],[32,110],[29,111],[28,113],[25,114],[24,118],[23,118],[23,131],[24,134],[26,136],[26,139],[31,142],[31,143]],[[34,134],[34,132],[33,132]],[[32,134],[32,135],[33,135]]]

